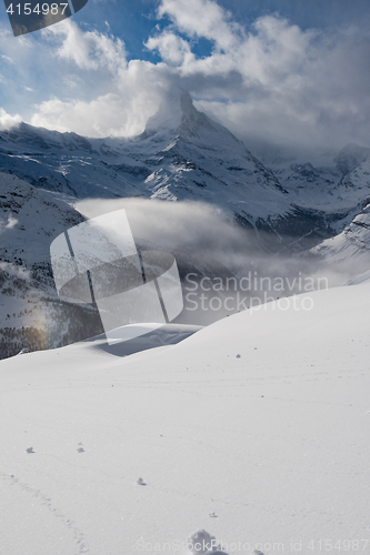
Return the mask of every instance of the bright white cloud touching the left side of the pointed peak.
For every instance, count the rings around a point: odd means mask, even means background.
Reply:
[[[67,98],[53,95],[36,107],[32,125],[87,137],[132,135],[143,131],[159,105],[161,70],[140,60],[129,63],[124,44],[106,33],[83,32],[70,20],[44,31],[69,72]],[[77,67],[77,73],[73,68]]]

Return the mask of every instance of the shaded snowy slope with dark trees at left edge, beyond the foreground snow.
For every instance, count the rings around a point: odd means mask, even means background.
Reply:
[[[50,264],[52,240],[83,220],[66,195],[0,174],[0,359],[101,332],[96,311],[59,301]]]

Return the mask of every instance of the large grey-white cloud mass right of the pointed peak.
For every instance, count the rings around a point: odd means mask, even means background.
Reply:
[[[191,0],[191,9],[186,0],[162,0],[159,14],[171,18],[172,33],[212,41],[210,56],[189,57],[177,74],[200,99],[198,108],[237,134],[307,145],[370,143],[363,30],[302,31],[266,16],[247,32],[211,0]],[[162,54],[160,40],[147,44]]]

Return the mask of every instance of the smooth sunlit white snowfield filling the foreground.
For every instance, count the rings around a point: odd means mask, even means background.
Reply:
[[[199,528],[229,554],[369,552],[370,286],[290,303],[126,359],[1,362],[0,553],[184,553]]]

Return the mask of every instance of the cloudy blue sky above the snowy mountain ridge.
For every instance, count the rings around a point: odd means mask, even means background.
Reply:
[[[14,38],[0,10],[0,127],[142,131],[166,90],[247,141],[370,145],[369,0],[89,0]]]

